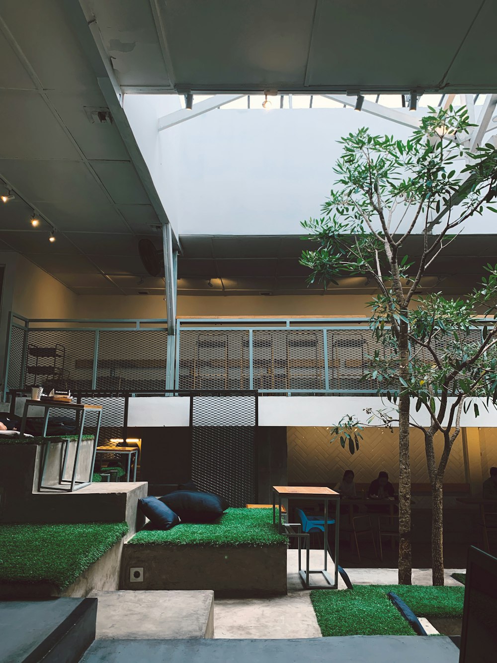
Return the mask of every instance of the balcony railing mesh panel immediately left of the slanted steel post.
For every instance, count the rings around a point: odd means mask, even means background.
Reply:
[[[168,333],[166,330],[101,330],[97,389],[164,391]]]

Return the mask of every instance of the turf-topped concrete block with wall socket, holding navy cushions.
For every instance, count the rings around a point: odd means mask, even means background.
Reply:
[[[227,509],[209,524],[144,529],[123,548],[120,587],[213,589],[231,597],[286,594],[287,544],[272,509]]]

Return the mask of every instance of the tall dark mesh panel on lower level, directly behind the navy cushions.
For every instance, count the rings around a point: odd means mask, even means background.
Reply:
[[[256,396],[192,397],[192,479],[232,507],[256,501]]]

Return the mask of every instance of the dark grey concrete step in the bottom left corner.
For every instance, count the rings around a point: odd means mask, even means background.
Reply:
[[[0,602],[1,663],[76,663],[95,638],[95,599]]]

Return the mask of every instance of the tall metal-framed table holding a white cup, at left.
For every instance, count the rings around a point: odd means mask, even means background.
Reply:
[[[45,469],[46,469],[46,461],[48,459],[48,453],[50,452],[50,444],[52,444],[52,440],[47,440],[46,443],[43,445],[43,450],[42,450],[42,467],[40,471],[40,479],[38,481],[38,491],[42,490],[49,490],[49,491],[62,491],[64,493],[74,493],[74,491],[78,491],[80,488],[85,488],[86,486],[89,486],[91,484],[91,477],[93,475],[93,467],[95,467],[95,455],[97,452],[97,442],[98,442],[98,436],[100,432],[100,422],[102,418],[102,406],[101,405],[83,405],[79,403],[59,403],[55,401],[47,401],[47,400],[31,400],[28,398],[25,401],[24,404],[24,410],[23,410],[23,419],[21,420],[21,430],[19,431],[19,436],[23,437],[25,434],[26,430],[26,420],[28,416],[28,409],[33,406],[33,407],[42,407],[44,408],[44,417],[43,417],[43,430],[42,430],[42,437],[46,437],[46,429],[48,428],[48,416],[50,414],[50,409],[51,408],[57,408],[57,409],[62,409],[62,410],[76,410],[76,414],[79,418],[79,425],[78,425],[78,440],[76,440],[76,455],[74,456],[74,467],[72,469],[72,475],[70,479],[64,479],[64,475],[66,474],[66,465],[67,465],[67,460],[68,460],[68,451],[69,451],[69,444],[70,440],[68,438],[64,438],[64,436],[60,436],[60,442],[64,444],[64,455],[62,457],[62,465],[60,467],[59,471],[59,484],[58,486],[44,486],[43,485],[43,479],[45,475]],[[95,412],[97,414],[97,430],[95,431],[95,436],[93,437],[93,450],[91,454],[91,465],[89,469],[89,477],[88,481],[78,481],[76,479],[76,475],[78,473],[78,462],[80,460],[80,449],[81,449],[81,443],[82,443],[82,437],[83,437],[83,429],[85,425],[85,415],[87,412]],[[79,416],[81,415],[81,416]],[[54,436],[55,437],[55,436]],[[70,486],[68,487],[63,487],[65,483],[69,483]]]

